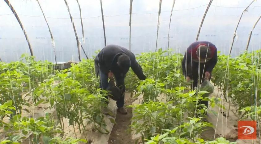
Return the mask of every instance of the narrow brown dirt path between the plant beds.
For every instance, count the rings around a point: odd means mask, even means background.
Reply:
[[[130,97],[130,93],[126,93],[124,106],[131,105],[133,101],[134,99]],[[113,126],[108,144],[134,144],[131,133],[126,131],[131,124],[132,108],[126,108],[126,110],[128,111],[127,115],[117,113],[116,124]]]

